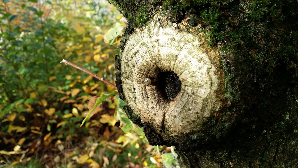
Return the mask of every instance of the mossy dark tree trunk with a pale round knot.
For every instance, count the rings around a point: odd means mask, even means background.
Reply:
[[[298,167],[298,2],[109,0],[124,111],[180,167]]]

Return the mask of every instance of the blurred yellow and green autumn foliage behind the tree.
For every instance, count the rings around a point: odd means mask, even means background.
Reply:
[[[60,63],[115,83],[121,17],[102,0],[0,1],[0,167],[162,166],[117,96],[79,127],[88,100],[115,88]]]

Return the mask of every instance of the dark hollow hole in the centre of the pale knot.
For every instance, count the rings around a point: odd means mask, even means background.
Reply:
[[[175,72],[159,72],[159,89],[167,100],[173,100],[181,90],[181,81]]]

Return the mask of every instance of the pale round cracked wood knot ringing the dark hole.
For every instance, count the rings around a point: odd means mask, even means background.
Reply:
[[[164,139],[202,130],[221,107],[223,96],[218,93],[222,93],[224,79],[222,70],[216,68],[220,67],[219,54],[201,33],[175,30],[156,15],[150,24],[130,35],[121,60],[129,107]],[[165,86],[171,82],[173,85]]]

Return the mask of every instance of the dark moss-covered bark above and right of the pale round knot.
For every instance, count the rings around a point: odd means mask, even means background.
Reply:
[[[297,166],[298,159],[292,156],[298,156],[298,2],[164,0],[153,4],[156,10],[163,8],[169,21],[187,18],[186,27],[204,33],[209,45],[219,49],[225,74],[228,104],[222,115],[212,116],[205,131],[183,135],[169,145],[187,151],[189,158],[196,156],[193,163]],[[153,9],[145,5],[135,9],[133,26],[146,25]],[[128,35],[124,33],[120,47]]]

